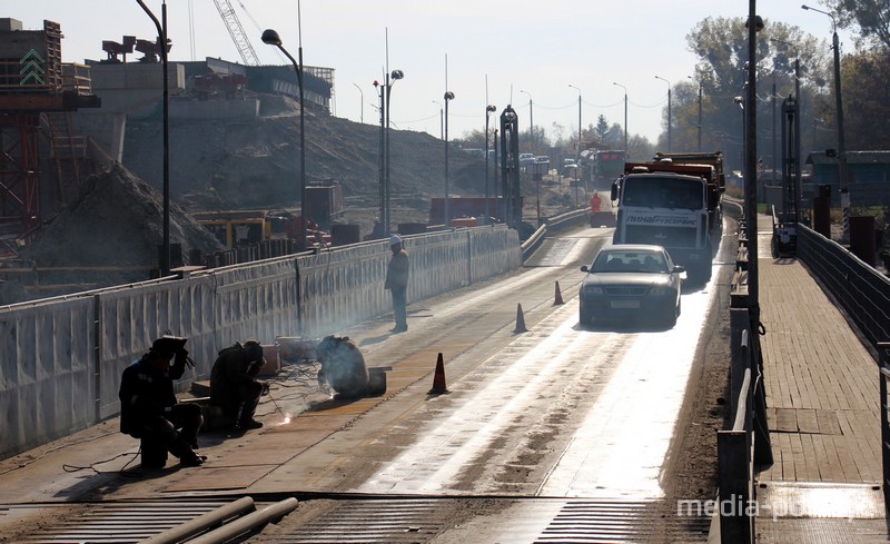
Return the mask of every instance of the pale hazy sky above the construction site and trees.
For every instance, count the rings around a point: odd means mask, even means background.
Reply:
[[[582,126],[600,115],[623,125],[624,90],[617,82],[627,88],[630,132],[652,141],[668,102],[668,83],[655,76],[672,83],[685,80],[695,63],[685,37],[695,24],[708,16],[746,17],[749,9],[745,0],[303,0],[298,26],[297,0],[229,1],[264,63],[288,61],[260,41],[263,29],[276,29],[296,58],[301,27],[304,62],[335,69],[332,110],[338,117],[379,122],[373,82],[383,78],[388,33],[389,70],[405,72],[392,92],[396,128],[439,136],[447,58],[447,90],[455,95],[448,105],[449,138],[484,129],[486,103],[498,115],[513,103],[526,129],[530,95],[536,127],[552,133],[556,123],[566,136],[577,133],[578,90],[570,86],[581,91]],[[161,0],[145,2],[160,19]],[[808,3],[824,10],[818,0]],[[136,0],[4,4],[2,17],[22,21],[28,30],[41,29],[43,19],[60,23],[66,62],[103,59],[102,40],[157,36]],[[798,26],[830,41],[831,20],[802,10],[801,0],[761,0],[758,10],[768,22]],[[240,62],[214,0],[169,0],[167,18],[171,60]],[[843,33],[841,40],[843,50],[853,49]],[[497,117],[490,122],[496,125]]]

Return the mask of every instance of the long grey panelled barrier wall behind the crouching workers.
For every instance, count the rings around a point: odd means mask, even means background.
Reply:
[[[408,300],[522,265],[518,236],[478,227],[405,237]],[[120,374],[166,333],[189,338],[196,363],[177,384],[207,379],[236,340],[320,337],[392,311],[385,241],[279,257],[0,308],[0,458],[120,411]]]

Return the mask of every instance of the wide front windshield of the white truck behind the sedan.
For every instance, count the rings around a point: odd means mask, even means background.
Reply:
[[[698,179],[631,176],[622,181],[621,202],[649,208],[704,208],[704,184]]]

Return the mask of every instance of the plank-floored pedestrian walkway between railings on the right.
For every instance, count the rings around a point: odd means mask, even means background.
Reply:
[[[887,542],[876,358],[758,221],[760,337],[773,464],[758,475],[759,543]]]

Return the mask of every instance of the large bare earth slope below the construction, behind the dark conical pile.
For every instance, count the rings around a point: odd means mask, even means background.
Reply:
[[[299,201],[299,103],[254,95],[259,117],[170,120],[170,192],[188,210],[296,207]],[[123,165],[155,187],[162,179],[157,115],[127,120]],[[306,182],[340,186],[344,197],[376,201],[380,179],[380,127],[357,123],[307,103]],[[444,142],[425,132],[389,131],[393,197],[444,190]],[[484,160],[449,154],[454,195],[484,191]],[[428,211],[428,207],[424,210]]]

